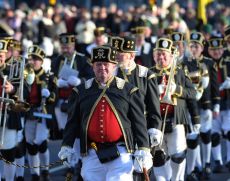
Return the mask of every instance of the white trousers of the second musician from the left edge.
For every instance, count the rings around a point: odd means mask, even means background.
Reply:
[[[27,143],[40,145],[48,139],[48,136],[49,130],[46,126],[46,120],[41,122],[38,122],[38,120],[26,120],[25,137]]]

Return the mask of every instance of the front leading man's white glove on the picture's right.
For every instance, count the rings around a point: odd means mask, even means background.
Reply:
[[[138,173],[143,173],[143,168],[149,170],[153,166],[152,155],[150,151],[136,150],[134,153],[134,170]]]

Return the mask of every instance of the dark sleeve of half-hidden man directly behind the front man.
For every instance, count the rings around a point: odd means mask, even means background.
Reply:
[[[149,78],[145,97],[147,127],[161,129],[161,113],[158,84],[156,79]]]

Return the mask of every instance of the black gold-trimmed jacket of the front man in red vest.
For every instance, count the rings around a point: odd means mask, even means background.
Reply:
[[[75,138],[78,137],[81,154],[87,154],[89,120],[97,103],[104,96],[118,119],[127,151],[133,152],[135,144],[139,149],[148,149],[144,102],[138,96],[138,88],[117,77],[112,78],[107,87],[100,88],[97,81],[92,78],[73,89],[69,98],[70,109],[62,145],[72,147]]]

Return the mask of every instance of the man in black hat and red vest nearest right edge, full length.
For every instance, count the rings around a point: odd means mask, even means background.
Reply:
[[[223,172],[223,159],[221,150],[221,135],[226,138],[227,163],[230,162],[230,117],[229,117],[229,74],[230,74],[230,57],[224,55],[224,38],[211,36],[208,40],[208,53],[217,64],[217,78],[220,86],[220,114],[213,118],[212,122],[212,155],[215,160],[213,168],[214,173]],[[229,163],[227,164],[229,165]]]

